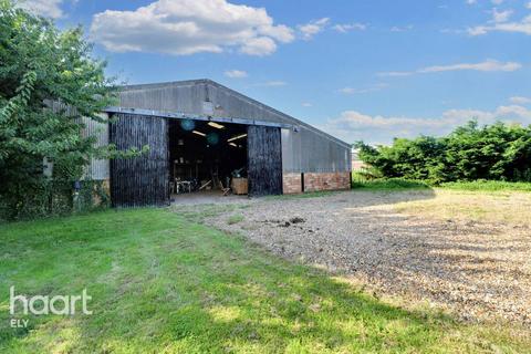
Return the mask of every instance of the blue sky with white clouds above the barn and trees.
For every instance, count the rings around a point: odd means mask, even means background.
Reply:
[[[531,124],[531,0],[27,0],[127,84],[211,79],[345,142]]]

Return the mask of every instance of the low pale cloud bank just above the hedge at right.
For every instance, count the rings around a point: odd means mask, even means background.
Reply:
[[[363,139],[372,144],[389,144],[394,137],[446,135],[472,118],[478,119],[479,124],[501,121],[528,125],[531,124],[531,111],[509,105],[499,106],[494,111],[448,110],[439,117],[382,116],[345,111],[320,127],[347,142]]]

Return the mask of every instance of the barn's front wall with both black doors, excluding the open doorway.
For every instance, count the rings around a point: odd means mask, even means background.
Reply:
[[[110,125],[118,148],[155,144],[148,157],[112,162],[116,206],[168,201],[167,175],[162,171],[168,165],[164,146],[169,118],[248,124],[249,175],[257,177],[249,180],[252,195],[350,187],[350,144],[210,80],[125,86],[118,106],[106,113],[118,115],[117,124]]]

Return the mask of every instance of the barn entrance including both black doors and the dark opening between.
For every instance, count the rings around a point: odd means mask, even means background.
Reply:
[[[114,118],[110,139],[117,149],[149,146],[142,156],[111,160],[114,207],[167,205],[175,196],[183,200],[198,192],[282,194],[279,126],[131,113]]]

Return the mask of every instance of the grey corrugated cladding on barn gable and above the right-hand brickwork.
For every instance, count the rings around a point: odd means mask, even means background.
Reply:
[[[282,133],[282,164],[285,173],[348,171],[345,158],[351,146],[299,119],[249,98],[209,80],[126,86],[121,93],[122,107],[145,108],[206,115],[210,102],[214,116],[259,119],[294,126]],[[210,112],[211,113],[211,112]]]

